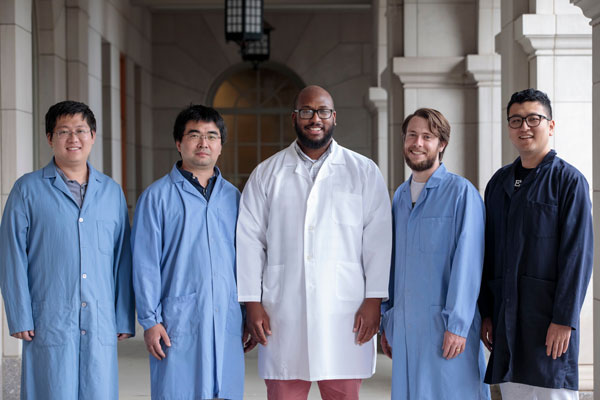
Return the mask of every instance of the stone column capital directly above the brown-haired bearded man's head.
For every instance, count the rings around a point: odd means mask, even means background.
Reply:
[[[394,57],[393,71],[404,88],[463,87],[465,57]]]

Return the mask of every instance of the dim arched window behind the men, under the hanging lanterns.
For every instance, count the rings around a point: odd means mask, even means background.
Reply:
[[[228,132],[218,166],[240,190],[258,163],[296,138],[292,103],[303,86],[283,67],[263,65],[235,68],[215,85],[212,106],[223,115]]]

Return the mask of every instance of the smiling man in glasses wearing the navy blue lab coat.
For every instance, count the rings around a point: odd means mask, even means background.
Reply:
[[[485,191],[481,339],[487,383],[503,399],[578,399],[579,313],[592,273],[589,187],[551,150],[548,96],[512,95],[509,137],[519,157]]]

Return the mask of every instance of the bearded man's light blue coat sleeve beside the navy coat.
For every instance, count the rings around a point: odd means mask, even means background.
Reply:
[[[481,285],[485,210],[481,196],[467,186],[456,205],[455,243],[446,304],[442,311],[446,329],[467,337],[475,315]]]

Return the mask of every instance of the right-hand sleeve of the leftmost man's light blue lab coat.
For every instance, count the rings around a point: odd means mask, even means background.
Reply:
[[[115,243],[114,274],[116,282],[115,309],[117,332],[135,334],[135,302],[131,272],[129,214],[123,192],[120,192],[120,225]]]

